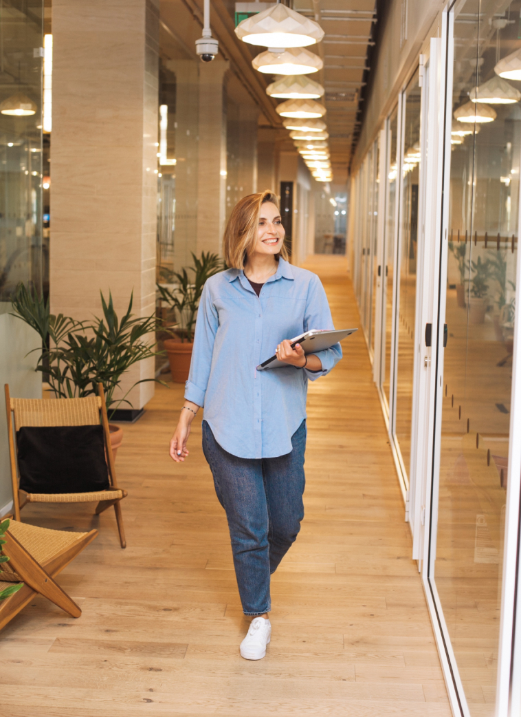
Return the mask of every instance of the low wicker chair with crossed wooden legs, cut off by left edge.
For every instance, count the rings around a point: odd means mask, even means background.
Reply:
[[[51,531],[11,521],[3,546],[9,562],[0,564],[0,592],[13,583],[22,582],[18,592],[0,600],[0,629],[39,593],[61,607],[71,617],[82,611],[54,581],[77,554],[94,538],[97,531],[69,533]]]

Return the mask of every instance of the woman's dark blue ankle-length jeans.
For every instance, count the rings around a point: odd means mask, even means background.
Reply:
[[[293,450],[276,458],[239,458],[216,442],[203,421],[203,450],[226,511],[242,609],[271,609],[269,576],[290,549],[304,518],[306,422],[291,438]]]

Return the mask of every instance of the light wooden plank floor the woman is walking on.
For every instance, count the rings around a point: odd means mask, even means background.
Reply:
[[[358,326],[343,257],[313,257],[337,327]],[[35,599],[0,633],[1,717],[449,717],[439,658],[362,332],[310,386],[306,517],[272,581],[267,657],[247,630],[224,512],[201,451],[174,465],[182,386],[158,387],[118,454],[128,548],[113,513],[24,508],[100,527],[60,582],[72,619]]]

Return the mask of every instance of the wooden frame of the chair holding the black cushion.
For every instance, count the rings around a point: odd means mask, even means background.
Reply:
[[[116,523],[118,524],[118,533],[120,536],[120,544],[122,548],[125,548],[127,546],[127,543],[125,541],[125,528],[123,527],[123,515],[121,513],[121,505],[120,502],[123,500],[123,498],[126,497],[127,491],[121,490],[118,488],[118,482],[116,480],[116,471],[115,471],[115,465],[114,465],[114,455],[112,450],[112,445],[110,444],[110,428],[108,424],[108,417],[107,417],[107,407],[105,404],[105,393],[103,391],[102,384],[97,384],[97,407],[100,410],[101,413],[101,422],[103,426],[103,435],[105,437],[105,452],[107,455],[107,467],[108,467],[108,474],[109,474],[109,480],[110,480],[110,491],[107,491],[107,493],[111,493],[110,498],[107,498],[107,500],[100,500],[100,493],[102,491],[98,491],[97,493],[93,493],[92,495],[95,497],[90,498],[89,493],[62,493],[59,495],[55,495],[54,499],[52,494],[42,494],[42,495],[31,495],[27,493],[25,490],[20,490],[18,485],[18,460],[17,460],[17,452],[16,452],[16,441],[14,438],[14,426],[13,426],[13,417],[15,417],[16,412],[16,400],[17,399],[11,399],[11,396],[9,394],[9,384],[5,384],[5,394],[6,394],[6,413],[7,413],[7,435],[9,439],[9,457],[11,462],[11,481],[13,485],[13,503],[14,503],[14,518],[16,521],[20,521],[20,510],[24,507],[26,503],[84,503],[88,500],[97,500],[97,506],[95,510],[95,514],[99,515],[103,511],[106,511],[107,508],[110,508],[111,505],[114,506],[115,516],[116,516]],[[68,401],[69,399],[35,399],[35,400],[41,400],[48,401],[49,403],[56,404],[57,402],[62,401]],[[76,401],[82,401],[82,400],[89,400],[89,399],[75,399]],[[52,424],[48,425],[56,425],[56,426],[66,426],[67,423],[63,422],[53,422]],[[118,495],[115,495],[115,493],[118,493]]]

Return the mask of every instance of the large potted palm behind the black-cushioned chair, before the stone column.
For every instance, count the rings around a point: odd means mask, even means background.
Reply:
[[[101,292],[100,292],[101,293]],[[77,321],[70,316],[50,313],[49,299],[44,300],[36,290],[19,284],[11,297],[13,315],[32,326],[42,338],[42,352],[37,371],[47,374],[50,389],[56,398],[83,398],[96,393],[103,385],[110,417],[121,403],[130,405],[128,393],[144,381],[136,381],[122,399],[114,397],[123,374],[130,366],[156,356],[145,337],[156,331],[155,316],[134,317],[133,295],[121,318],[115,312],[112,294],[108,303],[101,293],[103,316],[91,321]],[[110,424],[110,442],[115,453],[123,440],[123,429]]]

